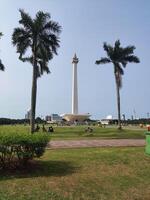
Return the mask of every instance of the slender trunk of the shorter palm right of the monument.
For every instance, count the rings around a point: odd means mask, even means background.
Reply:
[[[115,73],[115,80],[116,80],[116,90],[117,90],[118,129],[122,129],[122,127],[121,127],[121,111],[120,111],[120,88],[119,88],[116,73]]]

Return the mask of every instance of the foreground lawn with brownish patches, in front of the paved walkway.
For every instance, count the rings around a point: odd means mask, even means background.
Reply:
[[[22,172],[0,172],[0,200],[149,200],[144,148],[47,150]]]

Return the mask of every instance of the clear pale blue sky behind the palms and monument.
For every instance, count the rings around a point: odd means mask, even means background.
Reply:
[[[0,0],[0,117],[24,118],[30,108],[32,66],[18,59],[11,36],[19,27],[19,9],[32,17],[42,10],[62,26],[58,56],[49,62],[51,74],[38,79],[36,115],[71,112],[72,57],[78,63],[79,112],[93,119],[117,117],[113,66],[95,65],[103,42],[135,45],[140,64],[128,64],[121,89],[121,112],[147,117],[150,112],[149,0]]]

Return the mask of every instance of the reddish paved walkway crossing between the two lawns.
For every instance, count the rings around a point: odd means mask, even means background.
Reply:
[[[145,146],[144,139],[100,139],[100,140],[59,140],[51,141],[49,148],[79,148],[79,147],[140,147]]]

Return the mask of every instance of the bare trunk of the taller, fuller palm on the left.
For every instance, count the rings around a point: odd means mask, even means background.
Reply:
[[[37,93],[37,69],[36,69],[36,62],[34,59],[32,90],[31,90],[31,116],[30,116],[31,133],[34,133],[35,130],[36,93]]]

